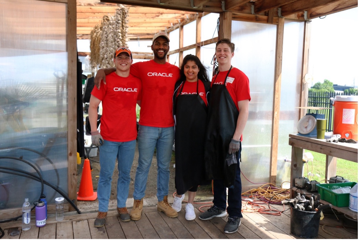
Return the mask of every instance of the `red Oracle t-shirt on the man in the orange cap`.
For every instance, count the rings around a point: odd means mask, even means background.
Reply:
[[[102,101],[101,136],[112,142],[128,142],[137,137],[136,102],[141,100],[141,80],[116,72],[106,75],[106,84],[93,88],[91,94]]]

